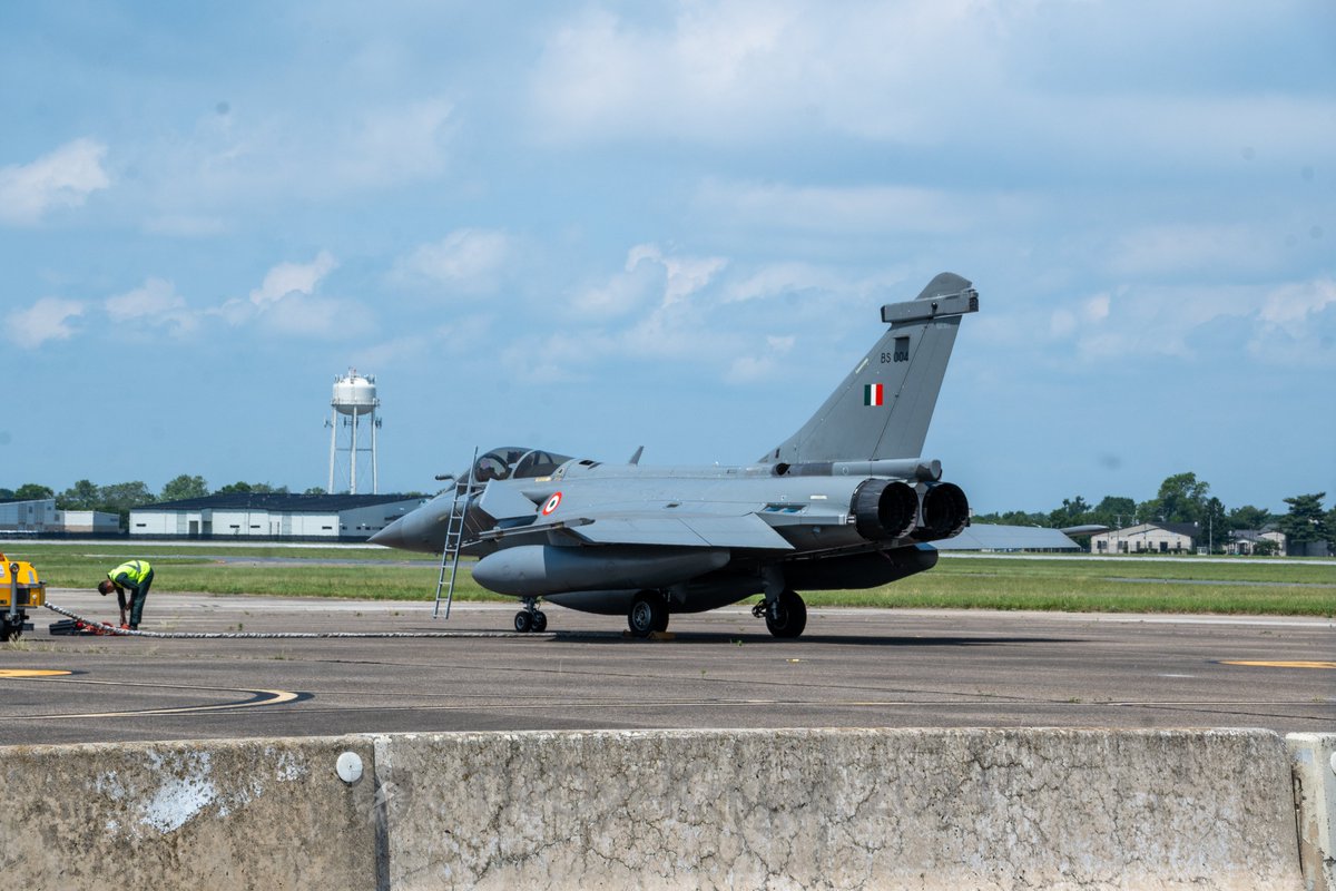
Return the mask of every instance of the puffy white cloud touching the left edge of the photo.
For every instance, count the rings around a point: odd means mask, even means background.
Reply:
[[[0,167],[0,222],[31,226],[51,210],[80,207],[111,184],[106,154],[102,143],[76,139],[31,164]]]

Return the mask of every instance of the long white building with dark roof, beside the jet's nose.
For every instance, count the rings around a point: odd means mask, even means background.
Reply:
[[[158,538],[365,541],[424,502],[421,497],[228,493],[164,501],[130,512],[130,534]]]

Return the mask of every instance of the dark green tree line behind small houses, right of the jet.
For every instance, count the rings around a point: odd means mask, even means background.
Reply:
[[[1229,544],[1230,533],[1244,529],[1275,528],[1285,533],[1288,541],[1327,541],[1336,549],[1336,505],[1323,509],[1325,492],[1285,498],[1288,513],[1273,514],[1265,508],[1241,505],[1226,509],[1220,498],[1210,494],[1210,484],[1197,480],[1194,473],[1176,473],[1160,484],[1160,492],[1148,501],[1121,496],[1105,496],[1098,504],[1089,504],[1082,496],[1063,498],[1062,506],[1047,513],[1007,510],[1005,513],[977,514],[977,522],[995,522],[1015,526],[1071,526],[1100,525],[1122,529],[1141,522],[1194,522],[1198,528],[1197,544],[1220,553]],[[1261,548],[1265,550],[1265,545]]]

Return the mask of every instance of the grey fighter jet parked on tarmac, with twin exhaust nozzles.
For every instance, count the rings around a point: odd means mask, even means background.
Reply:
[[[943,273],[792,437],[740,468],[613,465],[538,449],[488,452],[456,484],[371,536],[390,548],[478,557],[473,578],[520,597],[520,632],[542,631],[540,598],[625,614],[632,633],[672,613],[763,593],[752,614],[776,637],[807,624],[799,590],[878,588],[931,569],[926,544],[970,509],[922,457],[970,282]]]

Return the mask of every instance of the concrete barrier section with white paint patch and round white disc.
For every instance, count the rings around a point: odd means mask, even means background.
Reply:
[[[0,748],[11,888],[377,887],[374,784],[335,773],[371,740]]]

